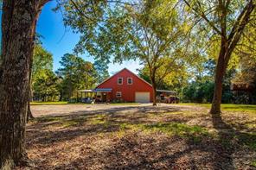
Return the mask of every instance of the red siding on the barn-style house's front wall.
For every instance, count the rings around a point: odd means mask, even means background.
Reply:
[[[118,78],[123,78],[123,85],[118,85]],[[127,78],[132,78],[132,85],[127,84]],[[150,101],[152,101],[153,98],[152,86],[146,83],[143,79],[139,79],[136,74],[126,68],[98,85],[97,88],[112,88],[112,93],[110,93],[111,100],[116,99],[117,91],[122,92],[121,99],[126,102],[135,101],[136,91],[150,92]]]

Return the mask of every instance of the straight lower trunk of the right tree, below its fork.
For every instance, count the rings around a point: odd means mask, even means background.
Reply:
[[[226,47],[224,46],[224,43],[222,43],[217,66],[215,69],[214,98],[210,110],[212,116],[215,117],[221,116],[222,82],[227,67],[225,62],[225,54],[227,53],[226,51]]]

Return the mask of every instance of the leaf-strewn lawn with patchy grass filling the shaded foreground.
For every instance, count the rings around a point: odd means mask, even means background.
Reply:
[[[65,114],[29,122],[27,152],[35,169],[255,169],[256,114],[225,105],[215,126],[198,106],[49,105]]]

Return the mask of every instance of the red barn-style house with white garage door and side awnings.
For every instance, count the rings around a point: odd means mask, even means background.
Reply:
[[[99,102],[150,103],[153,101],[152,85],[127,68],[115,73],[112,77],[97,85],[95,89],[81,90],[80,92],[93,92],[96,101]],[[157,92],[161,92],[161,90],[157,90]]]

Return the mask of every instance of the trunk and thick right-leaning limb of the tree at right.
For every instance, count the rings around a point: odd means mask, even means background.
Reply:
[[[231,54],[234,52],[234,48],[240,41],[240,37],[246,24],[250,21],[250,16],[255,8],[255,3],[249,1],[246,7],[240,13],[237,22],[234,24],[230,35],[227,38],[225,17],[222,19],[224,23],[221,25],[221,50],[218,57],[218,62],[215,71],[215,86],[214,86],[214,98],[210,113],[214,117],[221,117],[221,97],[222,97],[222,81],[224,79],[225,72],[227,70],[228,61]],[[226,10],[223,10],[223,15],[226,16]]]

